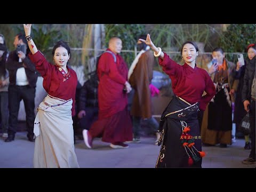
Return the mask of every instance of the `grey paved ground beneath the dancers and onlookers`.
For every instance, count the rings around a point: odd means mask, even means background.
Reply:
[[[141,143],[130,143],[127,149],[112,149],[109,143],[95,139],[93,149],[88,149],[83,140],[77,140],[75,151],[81,168],[154,168],[160,147],[153,145],[154,137],[143,137]],[[255,168],[256,164],[244,165],[241,161],[250,150],[243,149],[244,140],[237,139],[228,148],[203,147],[206,156],[203,168]],[[4,142],[0,138],[0,167],[33,167],[34,143],[29,142],[26,132],[18,132],[15,140]]]

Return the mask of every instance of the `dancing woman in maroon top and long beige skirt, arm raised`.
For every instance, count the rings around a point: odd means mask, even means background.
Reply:
[[[48,95],[39,104],[34,122],[36,168],[78,168],[74,147],[72,116],[75,115],[77,75],[67,66],[70,47],[67,42],[55,43],[52,56],[55,65],[37,50],[31,34],[31,24],[23,24],[28,41],[29,58],[43,77]]]

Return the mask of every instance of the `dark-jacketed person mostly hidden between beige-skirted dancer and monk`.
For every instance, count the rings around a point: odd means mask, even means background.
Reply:
[[[83,130],[89,130],[91,124],[98,119],[98,85],[98,76],[92,73],[81,89],[77,116]]]

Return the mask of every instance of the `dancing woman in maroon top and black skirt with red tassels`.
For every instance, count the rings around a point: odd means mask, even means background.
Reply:
[[[147,35],[139,39],[159,57],[159,65],[172,80],[175,97],[163,111],[158,145],[161,150],[156,167],[202,167],[201,135],[197,113],[205,110],[207,103],[215,94],[215,86],[206,70],[196,66],[198,47],[194,42],[185,42],[181,47],[184,65],[179,65],[156,47]],[[206,94],[202,97],[203,92]]]

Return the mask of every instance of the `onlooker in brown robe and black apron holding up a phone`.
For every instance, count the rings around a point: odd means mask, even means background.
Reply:
[[[209,103],[203,116],[201,127],[202,142],[205,146],[220,143],[221,148],[231,145],[232,102],[237,91],[238,79],[235,79],[236,65],[225,58],[221,47],[212,51],[209,75],[216,88],[214,98]]]

